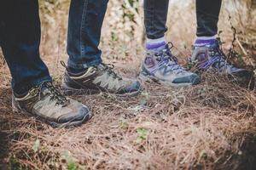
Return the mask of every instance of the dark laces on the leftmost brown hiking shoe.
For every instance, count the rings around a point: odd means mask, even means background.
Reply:
[[[57,88],[55,88],[51,82],[44,82],[43,84],[32,88],[28,93],[31,95],[38,95],[38,97],[40,98],[42,88],[49,89],[50,99],[56,100],[57,105],[68,105],[69,99],[67,99],[65,95],[61,94],[61,92]]]

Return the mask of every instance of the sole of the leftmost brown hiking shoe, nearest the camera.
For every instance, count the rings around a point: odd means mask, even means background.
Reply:
[[[92,117],[92,115],[90,114],[90,111],[88,111],[87,115],[84,116],[84,118],[80,121],[76,121],[76,122],[65,122],[65,123],[57,123],[57,122],[52,122],[49,121],[48,119],[44,118],[43,116],[38,116],[35,114],[32,114],[31,112],[25,111],[23,109],[21,109],[18,105],[15,105],[15,100],[12,99],[12,109],[14,113],[21,113],[24,115],[30,115],[30,116],[34,116],[36,117],[39,121],[41,122],[45,122],[47,124],[49,124],[51,127],[58,127],[58,128],[71,128],[71,127],[79,127],[82,124],[84,124],[84,122],[88,122],[90,120],[90,118]]]

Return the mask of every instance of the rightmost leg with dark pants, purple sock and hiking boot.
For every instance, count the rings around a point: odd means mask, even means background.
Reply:
[[[217,71],[220,74],[248,79],[251,74],[227,63],[224,53],[219,48],[218,15],[222,0],[196,0],[197,31],[192,60],[203,71]]]

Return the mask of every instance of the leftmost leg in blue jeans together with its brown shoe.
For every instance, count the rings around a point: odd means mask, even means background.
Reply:
[[[53,87],[39,56],[40,34],[38,1],[1,1],[0,45],[12,75],[14,110],[55,127],[79,125],[89,119],[89,111]]]

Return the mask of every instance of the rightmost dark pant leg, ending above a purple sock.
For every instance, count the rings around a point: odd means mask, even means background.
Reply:
[[[218,15],[222,0],[196,0],[198,37],[212,37],[218,33]]]

